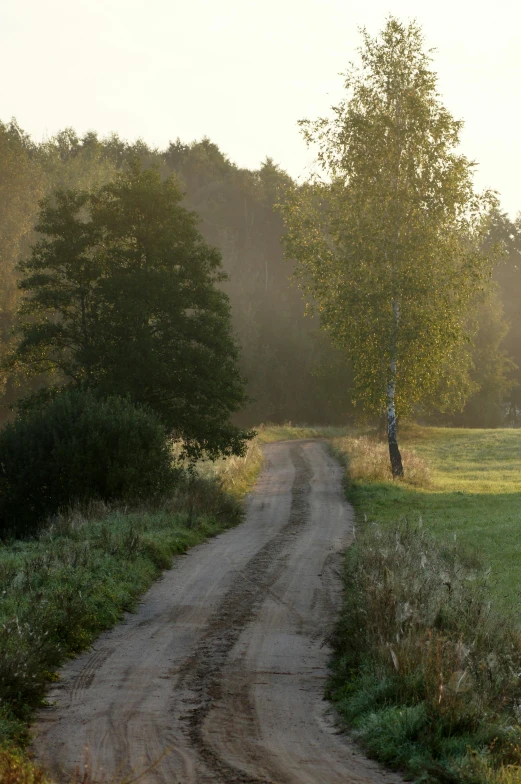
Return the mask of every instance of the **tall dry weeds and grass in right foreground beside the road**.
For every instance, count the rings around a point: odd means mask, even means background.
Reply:
[[[521,781],[521,635],[475,556],[367,526],[345,583],[331,696],[369,753],[422,781]]]

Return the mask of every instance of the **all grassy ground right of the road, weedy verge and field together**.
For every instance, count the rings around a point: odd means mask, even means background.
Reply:
[[[405,436],[406,472],[411,448],[429,468],[416,484],[333,442],[357,477],[358,535],[330,696],[372,756],[418,781],[520,784],[521,433]]]

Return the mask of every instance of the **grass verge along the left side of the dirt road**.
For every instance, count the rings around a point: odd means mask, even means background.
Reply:
[[[254,442],[154,506],[91,504],[0,544],[0,784],[45,780],[16,749],[57,668],[132,611],[174,556],[240,522],[261,462]]]

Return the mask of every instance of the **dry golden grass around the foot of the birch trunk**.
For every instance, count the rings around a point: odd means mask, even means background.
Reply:
[[[337,456],[347,464],[349,477],[354,482],[391,482],[389,448],[374,436],[356,438],[345,436],[333,438],[332,447]],[[413,449],[401,449],[404,465],[404,481],[417,487],[428,487],[431,483],[429,467]]]

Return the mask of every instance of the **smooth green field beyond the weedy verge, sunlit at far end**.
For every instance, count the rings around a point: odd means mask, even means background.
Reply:
[[[342,440],[333,442],[342,449]],[[431,485],[362,481],[349,489],[359,516],[422,521],[439,537],[474,548],[492,569],[496,600],[521,599],[521,430],[408,426],[400,443],[426,461]],[[407,472],[407,462],[405,471]],[[521,618],[521,610],[520,610]]]

